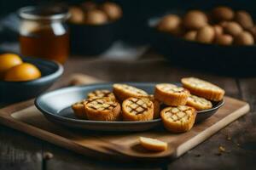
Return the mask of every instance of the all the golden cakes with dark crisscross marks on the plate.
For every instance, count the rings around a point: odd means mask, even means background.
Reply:
[[[154,95],[127,84],[113,84],[113,92],[93,91],[72,108],[77,117],[93,121],[150,121],[161,117],[167,130],[182,133],[193,127],[196,111],[210,109],[211,101],[223,99],[224,90],[195,77],[181,82],[183,87],[157,84]]]

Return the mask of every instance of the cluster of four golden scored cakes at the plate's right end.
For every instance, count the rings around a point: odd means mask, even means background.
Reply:
[[[182,87],[158,84],[154,96],[167,106],[160,112],[164,126],[175,133],[186,132],[195,123],[196,111],[212,108],[212,101],[224,97],[224,90],[195,77],[183,78]]]

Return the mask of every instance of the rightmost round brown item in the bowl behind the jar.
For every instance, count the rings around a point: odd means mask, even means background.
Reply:
[[[116,3],[103,3],[101,9],[108,15],[109,20],[118,20],[123,14],[122,9]]]

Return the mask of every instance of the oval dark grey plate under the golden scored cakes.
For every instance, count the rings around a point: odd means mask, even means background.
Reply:
[[[126,83],[126,82],[125,82]],[[55,122],[67,127],[77,127],[87,130],[97,131],[145,131],[160,125],[161,120],[155,119],[147,122],[102,122],[79,120],[73,115],[70,105],[86,98],[86,94],[96,89],[112,90],[113,83],[91,84],[81,87],[61,88],[46,94],[42,94],[35,100],[35,105],[39,111],[51,122]],[[153,82],[127,82],[137,88],[142,88],[148,94],[154,93]],[[212,116],[218,108],[224,104],[224,101],[213,104],[213,108],[198,112],[196,122],[201,122]]]

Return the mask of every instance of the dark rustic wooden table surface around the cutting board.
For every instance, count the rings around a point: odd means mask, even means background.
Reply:
[[[189,150],[176,161],[160,163],[94,160],[40,139],[0,126],[0,169],[253,169],[256,166],[256,77],[221,77],[177,68],[158,57],[135,60],[71,57],[55,87],[72,73],[84,73],[106,81],[177,82],[181,77],[201,77],[218,83],[226,94],[249,102],[251,111]],[[219,152],[219,146],[224,152]]]

